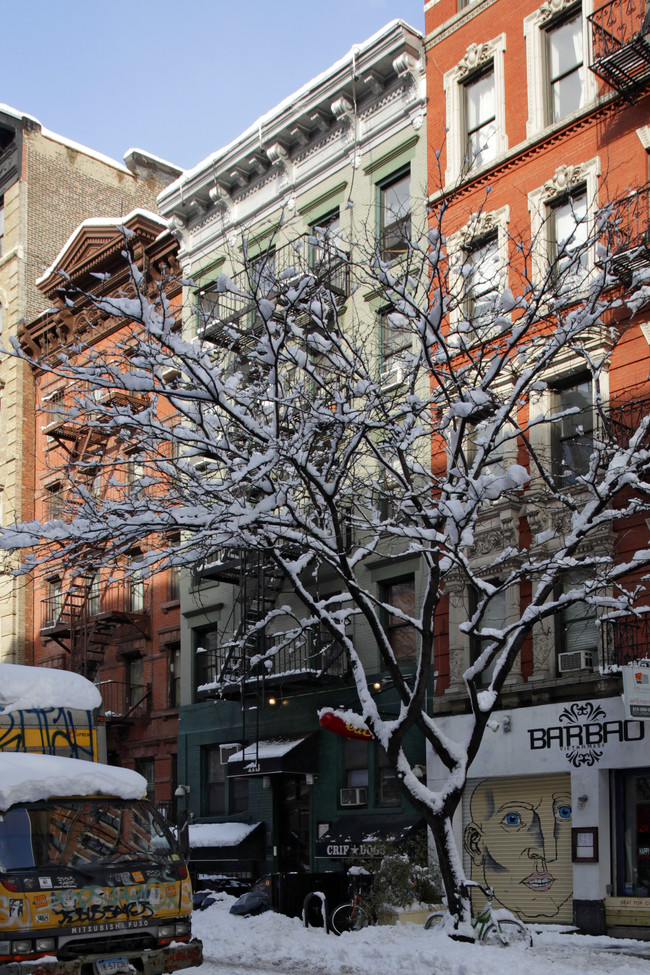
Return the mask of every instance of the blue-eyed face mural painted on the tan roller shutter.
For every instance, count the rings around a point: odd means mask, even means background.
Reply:
[[[557,777],[484,779],[471,802],[464,845],[472,879],[522,919],[557,918],[572,893],[571,795]],[[559,920],[559,918],[558,918]]]

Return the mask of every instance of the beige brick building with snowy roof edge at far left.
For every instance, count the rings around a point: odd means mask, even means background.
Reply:
[[[140,150],[117,162],[0,105],[0,327],[2,346],[46,307],[36,279],[79,223],[94,216],[156,210],[156,196],[180,170]],[[32,517],[33,381],[20,360],[0,356],[2,522]],[[0,572],[0,660],[31,662],[29,580]]]

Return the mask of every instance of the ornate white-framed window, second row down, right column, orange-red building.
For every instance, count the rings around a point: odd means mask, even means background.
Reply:
[[[594,266],[595,213],[600,159],[562,164],[543,186],[528,194],[533,277],[543,281],[549,268],[560,288],[586,283]]]

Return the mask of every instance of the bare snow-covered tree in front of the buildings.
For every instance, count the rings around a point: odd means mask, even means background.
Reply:
[[[66,378],[75,390],[67,423],[90,424],[106,443],[128,442],[144,467],[135,489],[106,452],[98,495],[72,459],[67,514],[5,528],[2,545],[22,550],[21,571],[55,558],[75,577],[119,565],[136,546],[141,572],[263,553],[291,580],[302,609],[276,605],[255,628],[291,613],[287,642],[317,625],[344,648],[358,722],[385,748],[432,831],[460,929],[471,910],[452,816],[533,629],[585,601],[609,617],[647,610],[650,552],[623,559],[597,542],[615,521],[650,507],[650,417],[634,419],[621,438],[603,384],[646,289],[638,280],[624,287],[607,255],[598,269],[588,266],[602,220],[594,238],[572,236],[541,264],[535,247],[510,240],[508,266],[496,267],[494,254],[477,256],[467,241],[448,247],[445,219],[442,207],[428,237],[398,254],[325,235],[310,242],[311,257],[296,244],[279,267],[269,246],[268,260],[245,259],[236,278],[223,275],[204,296],[196,335],[190,317],[179,330],[164,276],[150,280],[133,258],[123,296],[103,297],[104,283],[80,293],[62,279],[73,316],[90,303],[104,322],[132,323],[128,340],[106,347],[86,334],[47,356],[26,336],[14,354]],[[291,240],[290,225],[280,233]],[[337,274],[353,282],[345,302]],[[364,304],[369,294],[376,314]],[[551,396],[567,363],[586,377],[588,410]],[[160,419],[163,402],[173,422]],[[477,559],[477,531],[497,509],[511,513],[512,544]],[[424,579],[413,615],[368,582],[377,556],[397,562],[407,553]],[[582,581],[567,588],[576,565]],[[343,601],[319,596],[313,580],[325,568]],[[441,732],[426,696],[436,616],[458,585],[474,594],[462,629],[480,648],[462,673],[471,713],[463,742]],[[488,625],[504,595],[519,609]],[[417,633],[408,673],[391,645],[391,618]],[[375,669],[379,659],[399,695],[390,719],[368,688],[367,648],[349,636],[354,619],[364,621]],[[239,634],[241,645],[247,636]],[[280,649],[276,641],[265,653]],[[405,757],[411,729],[448,770],[438,792]]]

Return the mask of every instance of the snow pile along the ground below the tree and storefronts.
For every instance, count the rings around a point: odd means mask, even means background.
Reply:
[[[340,938],[304,928],[298,918],[268,911],[257,917],[229,913],[235,898],[214,894],[217,902],[193,915],[194,934],[203,941],[204,965],[298,972],[300,975],[647,975],[650,944],[591,938],[566,929],[533,930],[533,948],[493,948],[460,944],[421,925],[382,925]],[[645,957],[627,952],[643,952]],[[620,953],[623,952],[623,953]],[[614,957],[615,955],[615,957]]]

